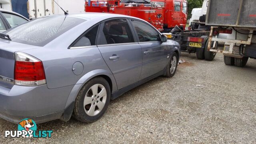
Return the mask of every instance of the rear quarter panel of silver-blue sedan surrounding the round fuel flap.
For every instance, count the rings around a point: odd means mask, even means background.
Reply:
[[[105,70],[106,75],[111,74],[96,46],[62,50],[40,48],[36,50],[27,50],[26,53],[42,60],[46,75],[46,83],[50,89],[85,83],[86,80],[81,78],[93,70],[103,69]],[[83,71],[80,75],[74,74],[72,70],[74,63],[76,62],[82,63],[81,67]],[[89,74],[94,74],[95,76],[95,73],[93,72]],[[104,72],[101,72],[101,74],[104,74]],[[90,78],[90,76],[87,75],[86,77]],[[114,80],[112,81],[114,82]]]

